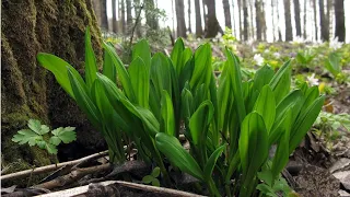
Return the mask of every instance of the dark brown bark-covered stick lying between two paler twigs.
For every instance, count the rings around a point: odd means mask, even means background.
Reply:
[[[77,169],[74,171],[72,171],[71,173],[65,175],[65,176],[60,176],[57,177],[52,181],[43,183],[43,184],[38,184],[38,185],[34,185],[32,188],[45,188],[45,189],[52,189],[56,187],[60,187],[60,186],[65,186],[68,184],[71,184],[80,178],[82,178],[83,176],[88,175],[88,174],[93,174],[93,173],[97,173],[97,172],[102,172],[102,171],[107,171],[112,169],[112,165],[109,163],[106,164],[102,164],[102,165],[97,165],[97,166],[91,166],[91,167],[85,167],[85,169]]]

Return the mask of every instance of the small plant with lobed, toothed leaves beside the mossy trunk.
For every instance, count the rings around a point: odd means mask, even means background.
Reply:
[[[46,149],[50,154],[57,154],[57,146],[61,142],[70,143],[77,139],[74,127],[59,127],[50,131],[47,125],[42,125],[38,119],[30,119],[28,129],[19,130],[12,141],[20,144],[28,143]]]

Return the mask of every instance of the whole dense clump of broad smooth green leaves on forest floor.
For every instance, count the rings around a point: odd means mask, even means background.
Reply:
[[[56,56],[39,54],[38,60],[102,131],[114,162],[125,161],[122,144],[131,140],[140,159],[158,164],[165,182],[168,161],[206,184],[212,196],[258,195],[257,174],[272,144],[278,148],[267,167],[278,179],[324,103],[317,86],[290,90],[290,61],[277,73],[264,66],[243,80],[238,58],[226,48],[217,79],[209,44],[192,53],[179,38],[167,57],[151,56],[143,39],[132,48],[128,68],[113,46],[103,46],[98,73],[86,31],[85,81]],[[189,152],[178,140],[183,127]]]

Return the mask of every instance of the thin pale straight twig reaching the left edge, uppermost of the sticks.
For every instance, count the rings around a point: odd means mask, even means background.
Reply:
[[[21,178],[21,177],[27,176],[30,174],[36,175],[36,174],[47,173],[47,172],[51,172],[51,171],[58,170],[58,169],[63,167],[63,166],[73,166],[73,165],[80,164],[82,162],[94,160],[94,159],[97,159],[97,158],[101,158],[101,157],[104,157],[104,155],[107,155],[107,154],[108,154],[108,151],[103,151],[103,152],[98,152],[98,153],[95,153],[95,154],[88,155],[85,158],[81,158],[79,160],[73,160],[73,161],[58,163],[58,164],[46,165],[46,166],[37,167],[37,169],[34,169],[34,170],[31,169],[31,170],[26,170],[26,171],[16,172],[16,173],[5,174],[5,175],[2,175],[0,177],[0,181],[2,183],[4,183],[4,182],[11,181],[11,179],[15,179],[15,178]]]

